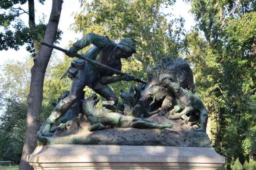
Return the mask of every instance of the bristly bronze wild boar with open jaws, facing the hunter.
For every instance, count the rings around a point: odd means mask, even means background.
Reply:
[[[149,112],[161,108],[159,116],[165,115],[173,106],[174,94],[163,87],[163,82],[169,79],[178,83],[183,89],[194,92],[193,72],[182,58],[171,59],[163,57],[154,68],[147,68],[148,80],[145,89],[141,92],[139,103]]]

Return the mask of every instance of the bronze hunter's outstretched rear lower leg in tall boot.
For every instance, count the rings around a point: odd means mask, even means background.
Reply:
[[[52,136],[52,133],[50,132],[52,124],[57,122],[57,120],[66,113],[68,108],[72,106],[74,102],[76,102],[76,98],[74,98],[72,95],[69,95],[65,99],[62,99],[55,106],[50,116],[46,119],[40,128],[42,136]]]

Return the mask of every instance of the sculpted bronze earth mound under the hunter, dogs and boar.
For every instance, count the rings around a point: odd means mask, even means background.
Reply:
[[[89,131],[90,123],[81,114],[72,121],[60,124],[54,135],[44,137],[38,133],[39,145],[131,145],[131,146],[180,146],[212,147],[206,133],[192,131],[182,120],[171,121],[164,116],[153,115],[145,120],[159,124],[173,124],[166,129],[110,128]]]

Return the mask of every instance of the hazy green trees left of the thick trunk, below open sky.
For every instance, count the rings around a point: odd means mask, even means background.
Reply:
[[[7,61],[1,68],[0,159],[20,161],[24,143],[32,59]]]

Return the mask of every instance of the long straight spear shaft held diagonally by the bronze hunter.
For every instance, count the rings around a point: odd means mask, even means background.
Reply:
[[[45,46],[47,46],[47,47],[57,49],[57,50],[62,51],[62,52],[64,52],[64,53],[68,53],[68,50],[63,49],[63,48],[60,48],[60,47],[57,47],[57,46],[52,45],[52,44],[50,44],[50,43],[47,43],[47,42],[44,42],[44,41],[41,41],[40,43],[41,43],[41,45],[45,45]],[[86,57],[84,57],[83,55],[76,54],[76,57],[77,57],[77,58],[80,58],[80,59],[83,59],[83,60],[85,60],[85,61],[88,61],[88,63],[91,63],[92,65],[100,66],[102,69],[106,69],[106,70],[108,70],[108,71],[111,71],[111,72],[113,72],[113,73],[116,74],[116,75],[120,75],[120,76],[125,76],[125,75],[126,75],[126,73],[124,73],[124,72],[122,72],[122,71],[113,69],[113,68],[111,68],[110,66],[107,66],[107,65],[105,65],[105,64],[101,64],[101,63],[99,63],[99,62],[97,62],[97,61],[94,61],[94,60],[91,60],[91,59],[89,59],[89,58],[86,58]],[[139,78],[134,78],[133,81],[146,84],[146,82],[140,80]]]

